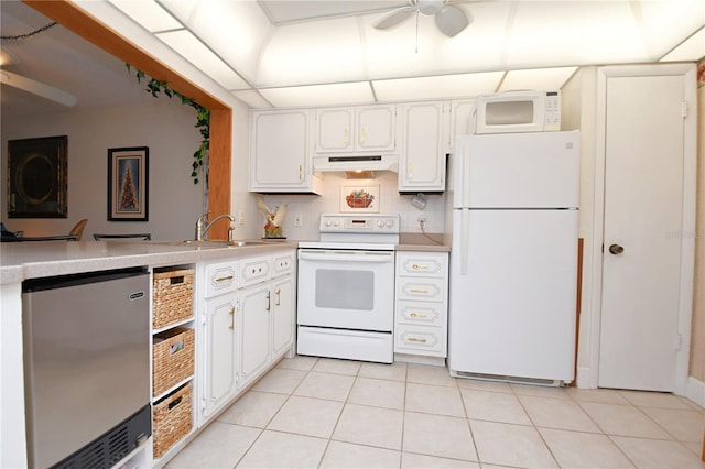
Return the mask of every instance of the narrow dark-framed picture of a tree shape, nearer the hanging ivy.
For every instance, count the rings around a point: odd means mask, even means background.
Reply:
[[[108,149],[108,220],[149,220],[150,149]]]

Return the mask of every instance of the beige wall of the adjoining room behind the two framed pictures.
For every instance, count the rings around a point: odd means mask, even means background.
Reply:
[[[151,232],[152,239],[188,239],[203,207],[203,184],[194,185],[191,163],[198,148],[195,111],[177,100],[147,105],[2,119],[2,220],[25,236],[67,234],[87,218],[84,240],[94,232]],[[67,218],[8,218],[8,140],[68,135]],[[107,220],[108,149],[148,146],[149,221]],[[203,178],[202,178],[203,179]]]

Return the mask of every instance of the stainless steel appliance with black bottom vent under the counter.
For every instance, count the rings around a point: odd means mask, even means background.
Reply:
[[[109,468],[151,435],[145,269],[22,284],[28,461]]]

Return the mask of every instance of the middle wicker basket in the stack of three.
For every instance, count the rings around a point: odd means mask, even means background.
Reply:
[[[158,396],[194,374],[194,330],[175,327],[154,339],[152,394]]]

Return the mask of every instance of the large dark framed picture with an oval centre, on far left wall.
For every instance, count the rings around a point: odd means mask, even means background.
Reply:
[[[66,218],[68,137],[8,141],[8,217]]]

